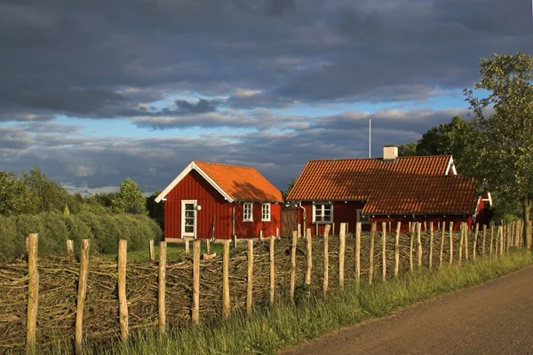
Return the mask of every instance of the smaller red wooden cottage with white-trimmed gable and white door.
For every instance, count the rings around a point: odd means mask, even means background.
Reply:
[[[155,201],[164,201],[166,241],[267,237],[281,227],[282,193],[254,168],[191,162]]]

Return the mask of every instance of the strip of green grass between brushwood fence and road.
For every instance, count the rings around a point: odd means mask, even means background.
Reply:
[[[533,264],[531,253],[516,250],[507,256],[478,259],[476,263],[466,263],[462,267],[445,267],[434,272],[420,270],[398,280],[375,282],[371,287],[366,282],[359,286],[348,282],[345,292],[335,291],[309,301],[303,298],[298,304],[280,300],[274,307],[257,307],[251,318],[237,312],[227,320],[174,329],[164,336],[155,332],[132,332],[129,343],[87,344],[85,352],[273,354],[338,327],[382,317],[407,305],[481,284],[529,264]]]

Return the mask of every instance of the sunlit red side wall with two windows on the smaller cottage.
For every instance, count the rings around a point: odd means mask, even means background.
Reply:
[[[282,206],[270,203],[270,221],[261,221],[262,203],[254,202],[251,210],[253,221],[243,221],[243,203],[235,203],[235,234],[237,238],[259,238],[259,231],[263,237],[275,235],[275,229],[282,229]]]

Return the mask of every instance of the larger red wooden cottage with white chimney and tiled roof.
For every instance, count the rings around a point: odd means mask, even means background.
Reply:
[[[298,224],[322,234],[327,224],[402,222],[483,223],[484,201],[473,179],[457,175],[451,155],[398,157],[385,146],[383,158],[307,162],[287,200],[298,206]]]

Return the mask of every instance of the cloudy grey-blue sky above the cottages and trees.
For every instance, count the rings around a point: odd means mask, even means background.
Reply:
[[[469,109],[493,53],[533,54],[529,0],[0,0],[0,170],[70,192],[163,190],[191,161],[284,190]]]

